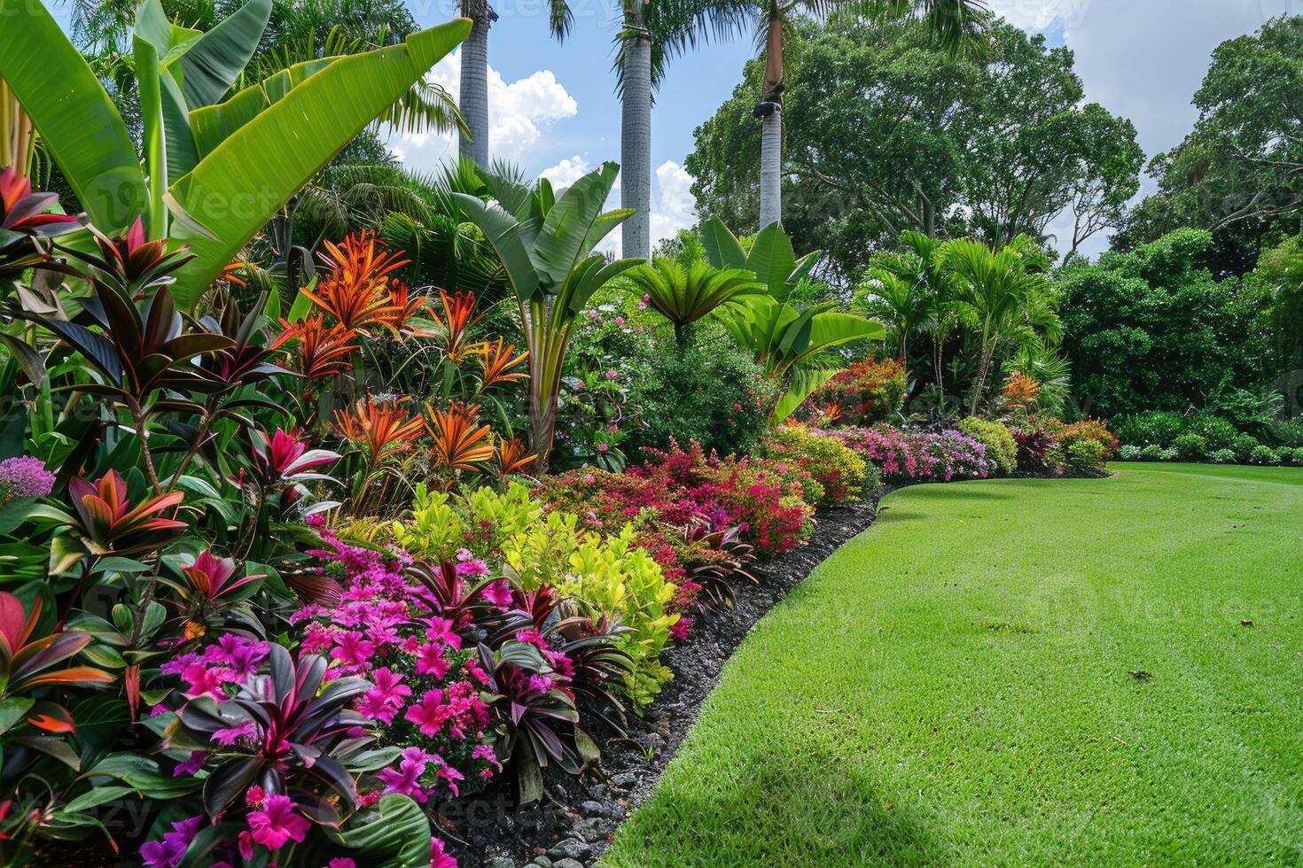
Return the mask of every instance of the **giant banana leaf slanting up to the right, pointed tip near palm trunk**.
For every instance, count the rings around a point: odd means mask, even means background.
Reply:
[[[177,224],[195,258],[177,275],[190,306],[285,202],[470,31],[468,18],[340,57],[265,108],[179,178],[171,195],[211,233]]]

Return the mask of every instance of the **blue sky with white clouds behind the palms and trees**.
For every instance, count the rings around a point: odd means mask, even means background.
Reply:
[[[1012,23],[1072,48],[1087,99],[1131,118],[1149,156],[1190,130],[1196,118],[1190,100],[1217,44],[1252,33],[1270,17],[1303,14],[1303,0],[988,1]],[[422,25],[447,21],[457,8],[448,0],[408,5]],[[575,0],[572,8],[573,34],[559,44],[547,34],[542,0],[499,0],[489,46],[491,152],[558,183],[619,159],[620,107],[611,72],[619,5]],[[65,3],[55,10],[66,18]],[[743,36],[701,46],[670,65],[652,120],[654,237],[696,221],[691,177],[681,168],[692,151],[692,130],[732,92],[752,53],[751,38]],[[433,77],[455,91],[456,55]],[[456,154],[450,138],[433,135],[395,138],[391,146],[418,168]],[[1071,226],[1071,215],[1062,225]],[[1100,236],[1087,252],[1105,246]]]

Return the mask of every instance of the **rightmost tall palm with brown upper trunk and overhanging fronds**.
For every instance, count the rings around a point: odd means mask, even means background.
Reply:
[[[938,47],[959,52],[976,44],[989,17],[986,0],[760,0],[757,42],[765,78],[756,105],[760,134],[760,228],[782,220],[783,34],[800,14],[826,17],[844,9],[877,21],[921,18]]]

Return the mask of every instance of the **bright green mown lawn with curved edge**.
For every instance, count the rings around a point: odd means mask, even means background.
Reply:
[[[606,864],[1298,865],[1303,470],[1115,471],[886,497]]]

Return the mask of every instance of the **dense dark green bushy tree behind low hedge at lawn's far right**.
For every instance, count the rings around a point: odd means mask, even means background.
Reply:
[[[1270,379],[1264,298],[1243,281],[1216,280],[1212,252],[1212,233],[1179,229],[1061,269],[1063,347],[1083,411],[1204,407],[1227,385]]]

